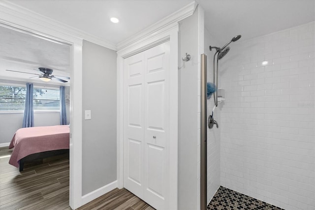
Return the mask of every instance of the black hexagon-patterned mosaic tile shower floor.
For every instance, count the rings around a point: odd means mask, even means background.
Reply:
[[[207,206],[208,210],[283,210],[242,193],[220,186]]]

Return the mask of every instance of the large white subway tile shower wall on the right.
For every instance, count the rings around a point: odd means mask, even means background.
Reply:
[[[221,158],[209,159],[222,186],[287,210],[315,209],[314,26],[240,39],[220,60]]]

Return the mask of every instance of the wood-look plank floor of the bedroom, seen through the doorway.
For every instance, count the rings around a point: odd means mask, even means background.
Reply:
[[[8,164],[11,153],[8,147],[0,148],[1,210],[71,210],[68,157],[47,163],[26,163],[20,173]]]

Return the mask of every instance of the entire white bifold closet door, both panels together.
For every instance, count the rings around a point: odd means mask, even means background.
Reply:
[[[169,209],[169,41],[125,59],[124,186]]]

